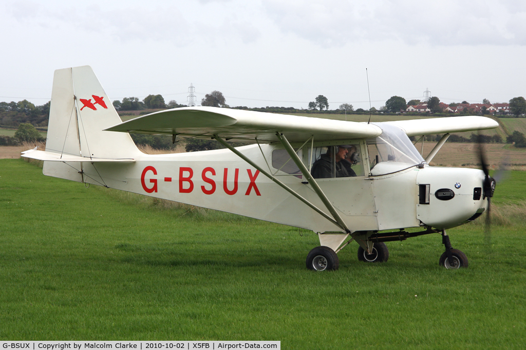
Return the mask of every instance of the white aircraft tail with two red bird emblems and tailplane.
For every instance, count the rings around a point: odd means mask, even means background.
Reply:
[[[104,131],[121,122],[91,67],[57,69],[46,151],[23,156],[43,160],[45,175],[84,182],[82,165],[66,162],[130,161],[141,154],[128,133]]]

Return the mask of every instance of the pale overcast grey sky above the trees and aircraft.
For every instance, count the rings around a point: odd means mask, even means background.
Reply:
[[[3,0],[0,33],[6,102],[44,104],[55,69],[84,65],[112,101],[186,104],[190,84],[231,107],[526,96],[521,0]]]

